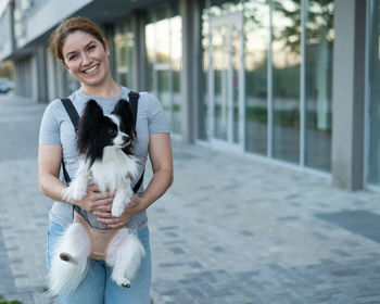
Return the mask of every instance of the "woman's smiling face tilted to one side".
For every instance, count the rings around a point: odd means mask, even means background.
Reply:
[[[90,34],[81,30],[69,34],[62,53],[68,72],[81,86],[100,86],[110,75],[110,50]]]

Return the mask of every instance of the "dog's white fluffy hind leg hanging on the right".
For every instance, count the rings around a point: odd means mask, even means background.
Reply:
[[[145,255],[140,240],[130,229],[122,229],[111,241],[105,262],[113,266],[112,279],[123,287],[130,287],[130,280],[139,270]]]

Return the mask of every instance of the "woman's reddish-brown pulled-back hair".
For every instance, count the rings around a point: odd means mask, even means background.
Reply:
[[[104,36],[92,21],[86,17],[71,17],[63,20],[51,34],[48,49],[52,51],[64,65],[66,64],[62,53],[63,45],[65,43],[67,36],[77,30],[81,30],[93,36],[105,49],[103,40]]]

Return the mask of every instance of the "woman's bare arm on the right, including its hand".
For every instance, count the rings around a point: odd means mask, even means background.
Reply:
[[[93,213],[100,216],[99,221],[106,224],[110,228],[126,225],[136,214],[144,211],[160,199],[173,183],[173,156],[169,134],[150,135],[148,150],[153,177],[141,198],[132,195],[123,215],[117,218],[111,217],[111,214],[106,213],[106,206],[104,206],[103,212]]]

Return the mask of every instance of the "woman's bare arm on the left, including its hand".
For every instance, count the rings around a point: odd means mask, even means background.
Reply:
[[[60,180],[62,162],[61,145],[40,144],[38,150],[38,176],[41,193],[54,201],[64,202],[63,190],[66,185]],[[87,195],[80,201],[71,202],[89,212],[93,212],[101,205],[111,205],[113,195],[105,197],[99,192],[97,186],[87,188]]]

